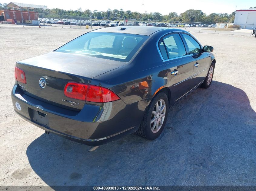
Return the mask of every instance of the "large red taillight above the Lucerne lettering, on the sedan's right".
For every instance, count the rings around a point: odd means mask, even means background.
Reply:
[[[78,100],[91,102],[110,102],[120,98],[108,88],[101,86],[82,84],[77,82],[68,82],[64,88],[64,94]]]

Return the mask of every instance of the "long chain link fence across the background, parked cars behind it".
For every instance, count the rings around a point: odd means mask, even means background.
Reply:
[[[91,17],[84,17],[81,15],[59,15],[49,14],[45,12],[33,12],[23,10],[4,10],[5,21],[10,24],[40,25],[41,27],[58,26],[62,28],[86,28],[86,27],[102,27],[110,26],[110,20],[97,20]],[[106,24],[101,24],[105,21]],[[116,18],[115,26],[156,26],[156,27],[170,27],[181,28],[188,32],[198,33],[215,33],[215,34],[236,34],[236,35],[252,35],[256,24],[233,24],[233,23],[211,23],[211,22],[182,22],[182,21],[155,21],[129,18]],[[243,28],[250,28],[243,29]]]

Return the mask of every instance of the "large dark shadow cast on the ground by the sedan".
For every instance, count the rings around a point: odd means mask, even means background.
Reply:
[[[213,81],[169,109],[162,135],[89,148],[43,134],[27,148],[48,185],[256,185],[256,114],[239,88]]]

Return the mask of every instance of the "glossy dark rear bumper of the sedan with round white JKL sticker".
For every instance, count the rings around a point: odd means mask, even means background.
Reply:
[[[127,105],[122,100],[116,100],[108,103],[86,102],[82,110],[74,111],[30,97],[18,84],[13,87],[11,97],[15,112],[23,119],[47,132],[89,146],[102,145],[135,132],[147,107],[146,101]],[[16,108],[16,102],[21,110]],[[36,122],[34,111],[46,114],[48,123]]]

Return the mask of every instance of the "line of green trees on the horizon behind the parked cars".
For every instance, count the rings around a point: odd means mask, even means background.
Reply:
[[[250,7],[256,8],[256,7]],[[6,3],[0,3],[0,9],[7,9]],[[51,15],[69,15],[69,16],[78,16],[78,17],[90,17],[93,19],[107,19],[107,20],[115,20],[115,19],[137,19],[137,20],[154,20],[154,21],[178,21],[178,22],[234,22],[235,11],[231,14],[228,13],[211,13],[209,15],[203,13],[201,10],[189,9],[178,15],[176,12],[170,12],[169,14],[162,15],[159,12],[151,12],[151,13],[139,13],[137,11],[124,11],[123,9],[108,9],[106,11],[91,11],[86,9],[85,11],[82,8],[78,8],[77,10],[63,10],[59,8],[53,8],[51,10],[37,10],[40,14],[39,17],[44,14]]]

